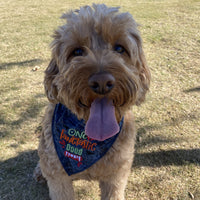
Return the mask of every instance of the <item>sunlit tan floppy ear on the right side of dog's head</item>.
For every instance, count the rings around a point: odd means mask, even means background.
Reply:
[[[146,62],[139,31],[134,28],[134,31],[132,31],[131,35],[137,44],[136,67],[139,71],[139,81],[141,87],[138,88],[136,105],[140,105],[145,100],[146,92],[149,90],[151,73]]]

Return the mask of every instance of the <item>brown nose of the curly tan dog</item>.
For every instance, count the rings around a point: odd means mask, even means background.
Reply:
[[[88,80],[88,85],[95,93],[104,95],[113,89],[115,78],[110,73],[93,74]]]

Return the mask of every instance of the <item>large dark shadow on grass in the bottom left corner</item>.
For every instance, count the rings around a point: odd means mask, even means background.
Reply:
[[[0,162],[0,197],[2,200],[48,199],[47,186],[36,183],[32,177],[38,159],[37,151],[27,151]]]

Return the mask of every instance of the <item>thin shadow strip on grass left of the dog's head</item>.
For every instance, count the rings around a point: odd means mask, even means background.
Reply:
[[[32,60],[26,60],[26,61],[21,61],[21,62],[10,62],[10,63],[0,63],[0,70],[2,69],[11,69],[14,66],[34,66],[36,64],[41,64],[42,60],[41,59],[32,59]]]

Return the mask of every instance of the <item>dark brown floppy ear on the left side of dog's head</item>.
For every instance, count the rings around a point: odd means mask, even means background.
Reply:
[[[47,95],[47,98],[52,103],[58,103],[57,96],[58,90],[57,86],[55,85],[54,79],[59,72],[58,66],[56,64],[56,60],[52,59],[49,63],[49,66],[45,70],[45,77],[44,77],[44,88]]]

